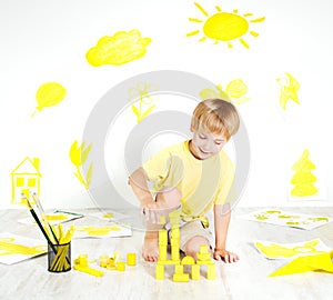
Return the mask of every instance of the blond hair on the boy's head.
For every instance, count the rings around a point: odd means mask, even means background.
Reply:
[[[240,118],[235,107],[222,99],[206,99],[193,111],[191,127],[198,130],[202,126],[211,133],[224,133],[229,140],[240,127]]]

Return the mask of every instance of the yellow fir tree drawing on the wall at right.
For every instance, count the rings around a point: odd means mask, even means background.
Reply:
[[[313,184],[316,177],[313,174],[315,164],[310,160],[310,151],[305,149],[301,158],[293,164],[294,176],[291,179],[293,189],[291,197],[309,197],[317,193],[317,188]]]

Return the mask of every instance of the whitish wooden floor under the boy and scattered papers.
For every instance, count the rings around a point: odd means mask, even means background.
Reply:
[[[89,258],[120,251],[138,252],[138,264],[127,267],[125,272],[105,271],[101,278],[75,270],[65,273],[50,273],[47,270],[47,256],[6,266],[0,263],[0,299],[333,299],[333,274],[306,272],[301,274],[268,278],[268,274],[284,264],[281,260],[266,260],[254,248],[254,240],[297,242],[321,238],[333,249],[333,223],[314,230],[263,224],[238,218],[258,208],[238,208],[233,211],[229,250],[240,254],[241,260],[233,264],[216,262],[216,280],[205,279],[201,271],[199,281],[173,282],[172,267],[167,269],[167,279],[157,281],[154,263],[141,258],[143,232],[133,231],[129,238],[74,239],[72,259],[80,253]],[[281,209],[281,208],[280,208]],[[323,213],[333,217],[333,208],[285,208],[287,211]],[[81,211],[82,212],[82,211]],[[36,226],[24,226],[17,220],[26,218],[26,210],[0,211],[0,232],[9,231],[30,238],[42,238]],[[81,220],[83,221],[83,220]]]

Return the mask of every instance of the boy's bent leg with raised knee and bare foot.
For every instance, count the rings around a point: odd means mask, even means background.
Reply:
[[[176,188],[164,188],[157,194],[155,201],[159,207],[155,216],[165,216],[178,209],[180,206],[181,192]],[[163,224],[159,222],[147,221],[147,230],[142,247],[142,256],[147,261],[158,261],[159,259],[159,230]]]

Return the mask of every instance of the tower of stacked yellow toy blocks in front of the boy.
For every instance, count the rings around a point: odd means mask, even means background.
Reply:
[[[184,266],[191,266],[191,279],[200,279],[200,266],[206,266],[206,278],[215,279],[215,263],[211,259],[206,244],[200,246],[200,252],[196,254],[196,262],[192,257],[185,256],[180,260],[180,211],[173,211],[169,214],[171,223],[171,259],[168,259],[168,230],[159,230],[159,250],[160,257],[155,267],[157,280],[164,280],[165,266],[174,264],[173,281],[189,282],[190,274],[184,273]]]

